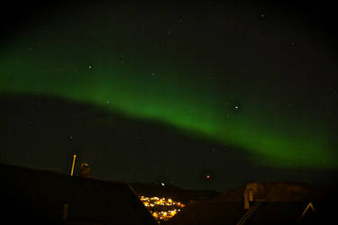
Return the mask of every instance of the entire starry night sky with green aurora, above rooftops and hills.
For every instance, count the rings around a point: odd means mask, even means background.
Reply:
[[[195,189],[333,184],[331,6],[236,2],[7,6],[0,162],[69,174],[78,154],[96,178]]]

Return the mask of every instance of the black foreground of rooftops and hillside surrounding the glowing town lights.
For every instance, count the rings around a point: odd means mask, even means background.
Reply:
[[[187,205],[162,224],[237,224],[248,211],[243,209],[244,187],[224,193],[188,191],[173,186],[70,177],[18,166],[0,165],[0,170],[0,194],[5,206],[1,214],[3,221],[11,221],[7,224],[158,224],[140,201],[142,194],[171,196]],[[285,191],[291,186],[297,186],[298,193]],[[334,221],[337,207],[333,192],[304,184],[275,183],[269,187],[269,198],[252,202],[252,207],[257,207],[242,224]],[[310,202],[311,207],[307,207]]]

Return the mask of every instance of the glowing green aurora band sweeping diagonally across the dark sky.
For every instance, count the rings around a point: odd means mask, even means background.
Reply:
[[[1,52],[0,91],[51,94],[162,121],[187,135],[242,148],[260,165],[323,169],[338,165],[330,130],[311,116],[269,113],[279,109],[249,101],[233,86],[208,83],[203,71],[194,74],[160,59],[150,59],[148,65],[119,65],[114,57],[102,62],[100,56],[83,62],[81,52],[64,52],[62,44],[43,41],[49,51],[29,50],[17,40]],[[233,99],[241,100],[238,110]]]

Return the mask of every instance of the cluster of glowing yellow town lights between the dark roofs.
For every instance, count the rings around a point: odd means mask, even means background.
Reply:
[[[143,204],[149,209],[152,216],[156,220],[170,220],[175,216],[180,208],[185,207],[186,205],[181,202],[175,202],[171,198],[159,198],[159,197],[140,197]],[[161,208],[161,210],[156,208]]]

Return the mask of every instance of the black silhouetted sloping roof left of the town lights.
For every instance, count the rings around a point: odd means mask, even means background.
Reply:
[[[128,184],[0,165],[11,224],[157,224]]]

